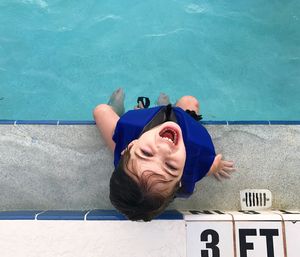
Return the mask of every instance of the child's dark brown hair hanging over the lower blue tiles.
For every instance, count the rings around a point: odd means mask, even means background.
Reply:
[[[150,221],[162,213],[175,198],[179,183],[167,196],[162,192],[151,191],[146,179],[135,182],[124,170],[130,158],[130,149],[126,149],[110,178],[111,203],[130,220]]]

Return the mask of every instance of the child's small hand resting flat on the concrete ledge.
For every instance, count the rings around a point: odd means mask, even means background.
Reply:
[[[230,178],[231,172],[233,171],[235,171],[233,161],[222,160],[222,154],[218,154],[207,175],[210,176],[213,174],[216,179],[222,180],[222,178]]]

